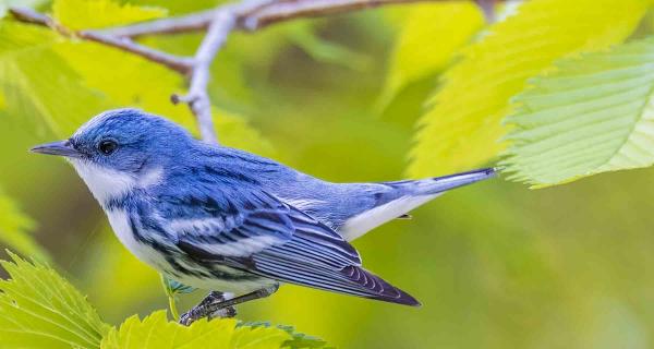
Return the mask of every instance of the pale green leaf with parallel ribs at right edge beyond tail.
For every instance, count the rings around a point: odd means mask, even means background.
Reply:
[[[654,38],[561,60],[506,121],[510,178],[553,185],[654,164]]]

